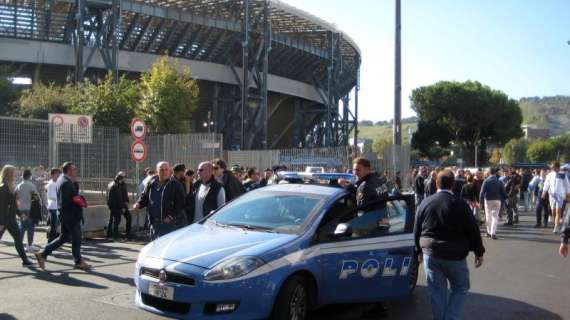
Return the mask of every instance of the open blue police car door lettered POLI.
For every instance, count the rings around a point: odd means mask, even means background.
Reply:
[[[363,218],[369,213],[359,216],[352,198],[343,197],[331,206],[314,244],[321,266],[321,303],[380,301],[409,293],[414,262],[413,203],[410,195],[389,198],[385,209],[389,227],[368,230],[360,222],[374,217]],[[360,227],[350,236],[335,237],[339,223]]]

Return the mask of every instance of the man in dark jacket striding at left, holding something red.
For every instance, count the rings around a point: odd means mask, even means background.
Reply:
[[[41,253],[36,253],[40,268],[45,269],[47,257],[57,248],[71,239],[71,253],[75,260],[75,269],[89,270],[91,266],[81,257],[81,221],[85,204],[79,195],[78,169],[75,164],[66,162],[62,167],[63,175],[57,180],[57,205],[61,220],[61,234],[50,242]]]

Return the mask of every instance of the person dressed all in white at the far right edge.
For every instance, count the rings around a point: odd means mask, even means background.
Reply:
[[[570,195],[570,183],[563,171],[560,171],[560,163],[552,163],[552,171],[546,176],[544,181],[544,190],[542,198],[546,198],[548,193],[550,199],[550,209],[554,218],[553,233],[560,232],[560,219],[562,217],[562,208],[566,202],[566,198]]]

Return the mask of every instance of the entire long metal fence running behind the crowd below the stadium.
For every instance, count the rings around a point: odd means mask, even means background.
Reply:
[[[95,205],[105,203],[107,185],[119,171],[127,173],[129,190],[134,197],[139,181],[137,173],[145,167],[154,167],[159,161],[197,168],[202,161],[220,157],[230,166],[239,164],[260,170],[284,165],[294,171],[315,166],[345,172],[357,156],[357,150],[351,146],[224,152],[222,141],[220,134],[147,135],[144,143],[148,156],[137,166],[130,156],[132,137],[121,134],[117,128],[55,126],[46,120],[0,117],[0,166],[12,164],[22,170],[40,165],[56,167],[72,161],[80,170],[82,192]],[[398,159],[395,163],[392,161],[394,152]],[[409,148],[391,147],[381,157],[367,156],[376,171],[388,170],[390,177],[399,171],[404,187],[407,186]]]

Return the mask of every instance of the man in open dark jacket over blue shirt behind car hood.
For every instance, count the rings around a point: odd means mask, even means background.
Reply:
[[[149,181],[134,206],[135,212],[148,208],[153,240],[188,224],[182,184],[172,176],[168,162],[159,162],[156,169],[158,175]]]

